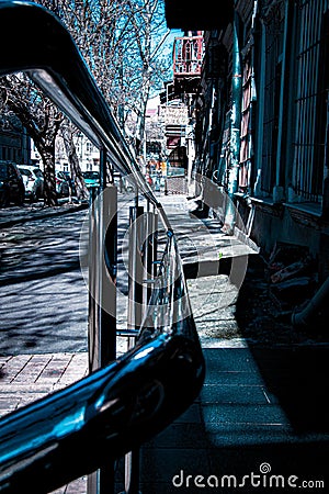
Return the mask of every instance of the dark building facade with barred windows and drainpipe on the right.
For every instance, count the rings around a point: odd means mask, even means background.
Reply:
[[[324,280],[329,274],[329,2],[222,3],[218,26],[205,23],[193,102],[194,168],[232,199],[243,234],[265,255],[277,243],[305,246]],[[225,225],[225,207],[219,213]]]

